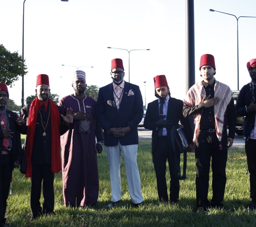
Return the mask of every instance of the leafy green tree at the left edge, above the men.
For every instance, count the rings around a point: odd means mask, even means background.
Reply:
[[[0,82],[12,87],[12,83],[18,80],[19,76],[26,75],[27,67],[25,60],[18,51],[11,53],[0,44]]]

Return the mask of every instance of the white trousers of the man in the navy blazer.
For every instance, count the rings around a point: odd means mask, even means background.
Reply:
[[[141,179],[137,166],[137,148],[138,145],[122,146],[118,143],[116,146],[105,146],[110,168],[110,182],[112,191],[112,201],[121,200],[121,176],[120,165],[123,153],[124,164],[126,166],[126,178],[130,198],[133,203],[141,203],[143,196],[141,194]]]

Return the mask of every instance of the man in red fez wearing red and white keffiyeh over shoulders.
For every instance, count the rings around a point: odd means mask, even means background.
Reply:
[[[196,199],[197,211],[210,207],[223,208],[226,186],[227,149],[233,144],[236,129],[236,111],[232,91],[214,77],[215,59],[204,54],[200,59],[200,76],[184,99],[184,117],[195,115]],[[229,134],[227,134],[227,124]],[[212,162],[211,162],[212,160]],[[209,172],[212,167],[212,199],[209,202]]]

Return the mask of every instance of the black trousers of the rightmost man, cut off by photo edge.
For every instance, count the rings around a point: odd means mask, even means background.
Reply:
[[[250,197],[256,203],[256,139],[245,140],[245,153],[250,173]]]

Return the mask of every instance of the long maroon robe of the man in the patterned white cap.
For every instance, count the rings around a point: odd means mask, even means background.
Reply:
[[[79,132],[79,120],[73,120],[70,130],[60,138],[64,204],[74,207],[94,204],[99,196],[95,136],[98,142],[104,141],[102,129],[96,122],[96,101],[88,96],[68,95],[60,100],[59,106],[65,112],[67,108],[86,112],[91,121],[90,133]]]

